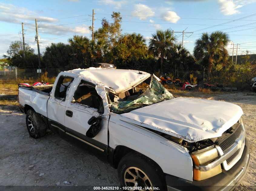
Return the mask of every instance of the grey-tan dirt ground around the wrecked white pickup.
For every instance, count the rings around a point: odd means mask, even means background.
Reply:
[[[177,91],[173,94],[177,97],[228,101],[243,109],[242,119],[250,142],[251,163],[246,177],[236,190],[254,190],[256,93],[202,94]],[[5,92],[1,92],[1,96],[6,96]],[[16,96],[9,95],[9,98],[15,101]],[[0,104],[0,140],[0,186],[118,186],[117,170],[52,132],[43,138],[31,138],[25,125],[25,115],[15,104]]]

